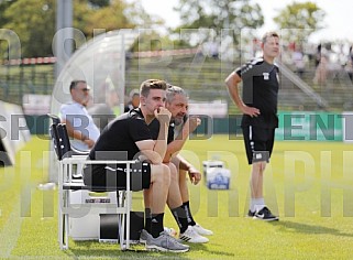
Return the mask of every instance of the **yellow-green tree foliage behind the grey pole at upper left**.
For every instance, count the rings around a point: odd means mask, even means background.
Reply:
[[[18,34],[22,57],[53,55],[56,1],[0,1],[0,28]],[[80,30],[87,40],[93,36],[93,29],[111,31],[161,22],[151,19],[137,2],[128,4],[124,0],[74,0],[73,3],[73,26]],[[0,39],[3,37],[0,35]],[[0,41],[0,58],[5,59],[9,56],[9,46],[3,41]]]

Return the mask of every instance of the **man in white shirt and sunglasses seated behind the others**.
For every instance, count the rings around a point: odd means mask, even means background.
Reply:
[[[74,139],[70,141],[71,147],[87,151],[93,147],[100,133],[92,117],[86,110],[91,98],[90,87],[85,80],[73,80],[69,90],[73,100],[60,107],[60,119],[66,123],[68,136]]]

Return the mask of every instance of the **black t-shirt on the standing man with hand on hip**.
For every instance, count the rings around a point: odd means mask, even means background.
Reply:
[[[277,128],[279,69],[263,58],[254,59],[235,69],[243,80],[243,101],[260,109],[258,117],[243,115],[242,127]]]

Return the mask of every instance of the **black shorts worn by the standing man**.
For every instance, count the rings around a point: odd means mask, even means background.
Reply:
[[[268,162],[275,141],[275,129],[242,127],[249,164]]]

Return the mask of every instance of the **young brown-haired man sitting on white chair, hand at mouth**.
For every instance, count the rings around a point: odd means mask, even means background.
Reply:
[[[133,172],[132,186],[140,184],[144,188],[145,201],[151,205],[151,226],[146,225],[146,248],[150,250],[185,252],[189,247],[179,243],[164,231],[164,209],[170,184],[170,171],[163,164],[167,143],[167,132],[170,112],[164,107],[166,83],[148,79],[141,85],[140,108],[123,113],[110,122],[91,150],[90,160],[139,160],[143,163],[139,178]],[[147,124],[157,119],[163,126],[158,139],[154,141]],[[121,156],[121,154],[123,156]],[[124,165],[87,166],[84,171],[84,182],[92,186],[119,186],[125,183]]]

